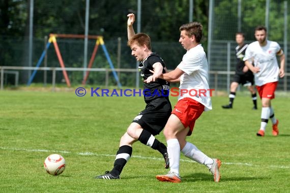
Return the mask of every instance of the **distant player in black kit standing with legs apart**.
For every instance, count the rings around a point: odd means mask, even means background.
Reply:
[[[231,109],[233,108],[234,99],[236,97],[236,90],[239,86],[239,84],[242,84],[243,86],[247,86],[248,90],[252,94],[252,101],[254,104],[253,109],[257,109],[257,95],[256,91],[254,90],[254,75],[253,73],[248,69],[248,67],[245,66],[245,62],[243,61],[246,49],[248,47],[248,44],[244,43],[245,36],[243,33],[236,33],[236,42],[238,46],[236,47],[236,56],[237,56],[237,67],[236,67],[236,73],[234,76],[233,82],[230,84],[230,94],[229,94],[229,104],[223,105],[222,108],[224,109]]]

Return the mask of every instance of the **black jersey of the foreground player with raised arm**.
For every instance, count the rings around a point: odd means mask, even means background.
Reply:
[[[150,70],[153,69],[153,65],[156,62],[160,62],[163,66],[162,73],[165,73],[165,63],[163,59],[156,53],[151,53],[143,61],[139,63],[139,71],[142,77],[142,80],[146,80],[149,76],[152,76],[153,73]],[[144,83],[144,101],[150,103],[152,100],[157,98],[165,98],[168,100],[169,95],[169,82],[166,82],[163,79],[158,78],[154,82]]]

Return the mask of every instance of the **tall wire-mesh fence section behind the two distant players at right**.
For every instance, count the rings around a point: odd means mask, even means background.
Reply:
[[[255,41],[254,28],[257,25],[264,25],[268,29],[268,39],[278,42],[284,50],[285,72],[290,72],[290,68],[287,68],[290,61],[288,1],[210,0],[209,12],[208,60],[211,71],[235,71],[236,33],[243,32],[246,43],[251,43]],[[229,73],[218,75],[218,87],[228,91],[232,78],[233,75]],[[216,84],[215,80],[211,79],[210,84]],[[290,90],[290,80],[287,76],[280,79],[277,89]]]

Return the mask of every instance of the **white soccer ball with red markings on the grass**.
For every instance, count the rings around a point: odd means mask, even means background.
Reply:
[[[46,157],[43,165],[48,174],[57,176],[64,172],[66,161],[60,154],[51,154]]]

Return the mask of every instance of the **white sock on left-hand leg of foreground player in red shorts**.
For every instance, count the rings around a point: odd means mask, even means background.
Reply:
[[[167,140],[167,152],[170,172],[174,172],[179,176],[180,145],[178,139]]]

